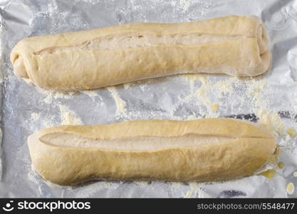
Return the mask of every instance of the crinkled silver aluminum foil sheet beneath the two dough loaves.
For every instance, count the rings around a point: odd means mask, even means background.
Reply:
[[[288,197],[297,190],[297,1],[1,1],[0,197]],[[80,93],[49,93],[19,81],[9,54],[27,36],[132,22],[183,22],[228,15],[261,17],[273,65],[259,78],[178,75]],[[271,128],[281,163],[264,175],[221,183],[94,181],[75,187],[46,183],[31,169],[26,138],[61,124],[108,124],[140,119],[236,117]],[[295,173],[295,174],[294,174]],[[295,176],[294,176],[295,175]],[[268,179],[269,177],[271,179]]]

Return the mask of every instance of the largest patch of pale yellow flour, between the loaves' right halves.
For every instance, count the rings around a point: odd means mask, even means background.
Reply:
[[[266,128],[275,131],[279,136],[283,136],[286,129],[285,123],[278,115],[277,111],[273,111],[269,103],[269,95],[273,94],[273,86],[269,86],[265,79],[256,80],[239,80],[236,77],[226,78],[222,81],[212,82],[209,76],[204,74],[183,74],[182,78],[189,83],[190,91],[182,102],[189,103],[197,100],[197,108],[199,113],[204,117],[217,117],[220,113],[220,106],[224,106],[226,94],[243,93],[239,96],[239,101],[244,103],[245,98],[251,98],[252,112],[259,118]],[[195,89],[195,84],[199,81],[200,86]],[[244,88],[244,91],[238,92],[235,88]],[[227,96],[228,97],[228,96]],[[238,97],[238,96],[237,96]],[[222,100],[220,101],[220,98]],[[234,100],[230,98],[229,106],[233,106]],[[204,108],[200,108],[204,106]],[[235,108],[235,107],[234,107]],[[195,116],[189,116],[188,120],[196,119]],[[295,136],[296,132],[288,130],[290,136]],[[297,134],[296,134],[297,135]]]

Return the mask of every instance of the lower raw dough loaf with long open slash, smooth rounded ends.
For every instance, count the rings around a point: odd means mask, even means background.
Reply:
[[[240,178],[269,163],[276,146],[265,128],[229,118],[58,126],[28,137],[34,168],[58,185]]]

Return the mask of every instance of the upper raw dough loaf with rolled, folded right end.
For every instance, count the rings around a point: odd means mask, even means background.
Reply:
[[[226,16],[29,37],[11,51],[11,63],[40,88],[75,91],[177,73],[257,76],[271,64],[268,47],[258,17]]]

